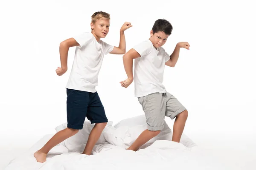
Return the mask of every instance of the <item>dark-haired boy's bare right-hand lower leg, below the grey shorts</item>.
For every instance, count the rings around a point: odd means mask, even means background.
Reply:
[[[172,141],[180,142],[181,135],[183,133],[186,119],[188,118],[188,111],[185,110],[178,114],[175,118],[175,122],[173,125],[173,134],[172,134]]]

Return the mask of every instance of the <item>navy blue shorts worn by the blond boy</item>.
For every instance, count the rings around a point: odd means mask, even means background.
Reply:
[[[85,117],[91,124],[108,122],[98,93],[67,88],[67,127],[82,129]]]

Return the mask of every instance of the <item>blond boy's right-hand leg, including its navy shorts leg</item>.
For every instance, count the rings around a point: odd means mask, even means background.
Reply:
[[[92,153],[93,147],[99,140],[99,137],[101,136],[102,131],[108,122],[105,109],[97,92],[90,93],[90,103],[87,110],[87,119],[90,120],[92,124],[95,123],[92,131],[90,132],[87,144],[83,152],[83,154],[90,155]]]

